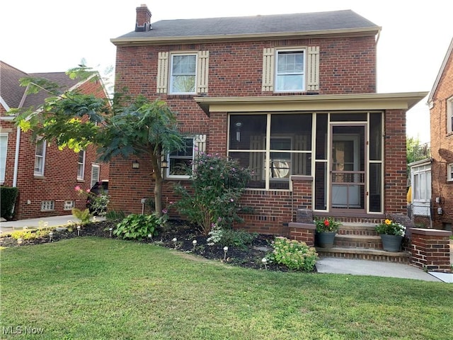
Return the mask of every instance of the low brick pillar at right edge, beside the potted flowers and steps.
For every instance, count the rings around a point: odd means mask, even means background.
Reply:
[[[411,228],[411,263],[427,271],[451,272],[449,237],[452,232]]]

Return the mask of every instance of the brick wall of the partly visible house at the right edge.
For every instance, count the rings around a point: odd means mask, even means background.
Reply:
[[[447,100],[452,96],[453,54],[445,65],[430,109],[433,227],[437,229],[442,229],[444,223],[453,225],[453,181],[447,181],[447,165],[453,163],[453,133],[447,133]],[[435,203],[436,197],[441,198],[440,204]],[[442,208],[442,215],[437,214],[437,208]]]

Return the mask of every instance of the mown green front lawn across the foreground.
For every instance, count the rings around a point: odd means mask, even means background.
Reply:
[[[0,254],[1,339],[452,339],[447,283],[257,271],[96,237]]]

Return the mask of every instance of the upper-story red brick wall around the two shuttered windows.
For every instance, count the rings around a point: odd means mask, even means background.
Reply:
[[[270,40],[194,45],[117,47],[116,89],[127,86],[132,94],[149,98],[156,94],[159,52],[210,51],[209,96],[269,96],[261,91],[263,48],[320,47],[320,94],[360,94],[376,91],[376,44],[374,37],[343,39]],[[179,98],[178,96],[177,98]],[[188,109],[196,106],[189,106]],[[178,107],[179,111],[185,111]],[[197,109],[200,111],[200,108]]]

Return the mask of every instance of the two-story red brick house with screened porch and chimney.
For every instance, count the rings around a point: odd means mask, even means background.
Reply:
[[[243,227],[287,234],[297,210],[347,222],[406,214],[406,111],[428,93],[376,92],[381,28],[353,11],[152,23],[112,39],[116,89],[178,113],[183,151],[166,155],[164,200],[197,150],[253,171]],[[153,196],[146,159],[110,164],[113,208]],[[452,161],[453,162],[453,161]],[[186,182],[187,181],[187,182]]]

